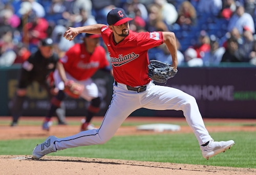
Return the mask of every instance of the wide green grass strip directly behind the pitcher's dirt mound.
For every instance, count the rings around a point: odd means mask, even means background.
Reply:
[[[114,136],[103,145],[69,148],[51,156],[155,161],[212,166],[256,168],[255,132],[210,133],[215,140],[233,139],[236,145],[206,160],[194,134],[158,134]],[[0,155],[31,155],[34,146],[44,139],[2,140]]]

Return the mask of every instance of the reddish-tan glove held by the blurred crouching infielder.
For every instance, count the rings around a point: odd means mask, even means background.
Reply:
[[[68,80],[65,82],[64,92],[72,98],[79,98],[84,86],[74,82],[73,80]]]

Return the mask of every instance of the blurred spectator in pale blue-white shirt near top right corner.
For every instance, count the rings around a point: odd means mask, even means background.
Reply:
[[[255,27],[252,16],[245,12],[243,4],[240,2],[236,2],[236,6],[236,13],[233,14],[228,22],[228,31],[230,32],[233,28],[237,28],[239,33],[242,34],[244,27],[247,26],[254,33]]]

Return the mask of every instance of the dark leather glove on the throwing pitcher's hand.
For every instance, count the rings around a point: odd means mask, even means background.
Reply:
[[[167,80],[173,78],[178,72],[178,69],[174,70],[170,64],[166,64],[157,60],[151,60],[147,67],[148,77],[158,83],[166,84]]]

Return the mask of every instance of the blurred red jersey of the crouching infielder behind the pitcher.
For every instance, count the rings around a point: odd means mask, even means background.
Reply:
[[[87,80],[101,68],[109,66],[106,52],[102,46],[95,47],[92,54],[87,52],[84,43],[73,45],[60,59],[65,70],[76,80]]]

